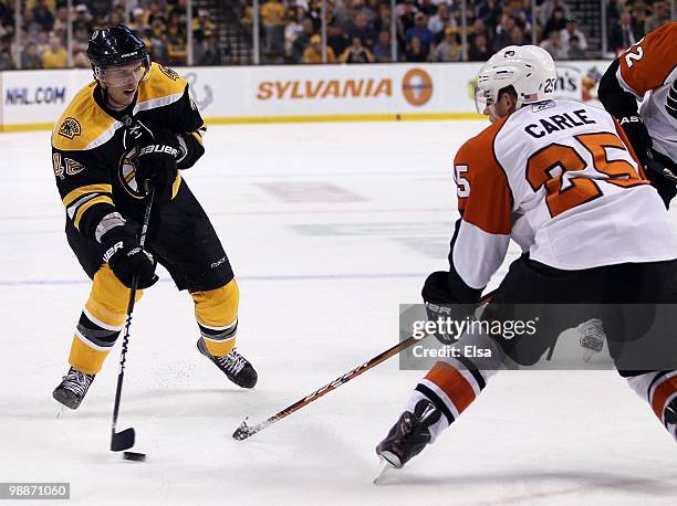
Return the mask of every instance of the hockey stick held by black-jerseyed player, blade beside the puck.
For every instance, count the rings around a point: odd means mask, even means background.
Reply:
[[[146,193],[148,194],[148,203],[144,212],[144,222],[142,224],[142,233],[138,240],[140,247],[146,243],[146,234],[148,232],[148,223],[150,222],[150,211],[153,210],[153,199],[155,198],[155,188],[145,181]],[[117,424],[117,415],[119,414],[119,401],[122,398],[122,386],[125,378],[125,361],[127,360],[127,346],[129,345],[129,327],[132,325],[132,312],[136,302],[136,287],[138,285],[138,275],[132,278],[132,288],[129,288],[129,303],[127,304],[127,317],[125,318],[125,331],[123,335],[122,352],[119,356],[119,373],[117,375],[117,387],[115,389],[115,403],[113,404],[113,428],[111,431],[111,451],[122,452],[134,446],[136,439],[134,429],[128,428],[122,432],[115,432]]]

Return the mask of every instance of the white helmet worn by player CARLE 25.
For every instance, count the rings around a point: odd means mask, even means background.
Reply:
[[[553,97],[558,73],[548,51],[535,45],[509,45],[489,59],[477,76],[475,105],[483,114],[506,86],[518,94],[517,108]]]

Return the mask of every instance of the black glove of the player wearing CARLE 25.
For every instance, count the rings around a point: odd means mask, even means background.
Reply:
[[[445,345],[452,345],[460,336],[454,333],[457,328],[448,321],[464,320],[472,315],[477,304],[461,303],[449,288],[450,273],[437,271],[426,278],[420,295],[426,303],[429,321],[436,321],[438,329],[435,337]]]

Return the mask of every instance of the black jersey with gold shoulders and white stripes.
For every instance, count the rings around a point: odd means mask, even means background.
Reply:
[[[82,88],[52,131],[52,165],[67,219],[87,239],[111,212],[138,220],[143,192],[135,180],[138,131],[171,131],[184,148],[179,169],[202,156],[199,130],[204,120],[190,98],[188,83],[175,71],[153,63],[134,103],[119,113],[104,107],[103,92],[93,82]],[[134,122],[129,125],[128,117]],[[127,120],[125,120],[127,118]],[[174,181],[171,198],[180,185]]]

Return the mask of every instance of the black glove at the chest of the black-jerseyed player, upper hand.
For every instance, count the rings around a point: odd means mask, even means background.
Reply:
[[[171,198],[171,186],[177,176],[177,162],[181,147],[176,134],[156,134],[155,139],[140,145],[136,156],[136,181],[142,185],[150,181],[156,198],[167,201]]]

